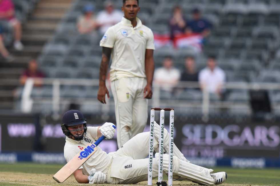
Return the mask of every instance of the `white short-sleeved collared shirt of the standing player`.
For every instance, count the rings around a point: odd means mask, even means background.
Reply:
[[[154,35],[139,18],[133,28],[131,21],[122,18],[121,22],[111,26],[100,41],[100,46],[113,48],[111,53],[110,80],[122,77],[146,78],[146,49],[155,49]]]

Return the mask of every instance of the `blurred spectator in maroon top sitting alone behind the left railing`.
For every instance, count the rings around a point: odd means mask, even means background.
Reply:
[[[34,78],[34,85],[41,86],[42,78],[44,77],[45,74],[38,69],[37,61],[35,59],[32,59],[28,64],[28,69],[26,69],[26,71],[21,75],[20,83],[24,85],[27,78]]]

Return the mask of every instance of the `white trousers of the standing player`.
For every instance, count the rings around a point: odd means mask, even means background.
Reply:
[[[117,143],[121,148],[144,131],[148,118],[148,100],[144,98],[145,78],[120,78],[111,82],[117,122]]]

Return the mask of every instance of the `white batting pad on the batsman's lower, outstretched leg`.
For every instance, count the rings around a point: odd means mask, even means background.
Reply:
[[[159,162],[159,153],[155,154],[157,163]],[[163,170],[168,172],[168,154],[163,154]],[[207,169],[195,164],[191,164],[180,160],[176,156],[173,156],[173,174],[184,177],[196,183],[204,185],[213,185],[215,183],[214,179],[211,177],[210,173],[212,169]]]

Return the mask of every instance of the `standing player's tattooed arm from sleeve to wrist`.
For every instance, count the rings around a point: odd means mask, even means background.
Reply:
[[[100,70],[99,70],[99,82],[101,81],[105,82],[106,80],[106,74],[110,62],[111,52],[112,52],[112,48],[102,47],[102,59],[101,59]]]

